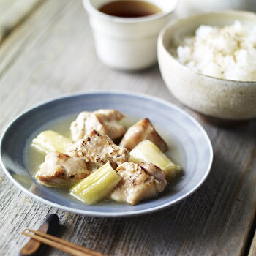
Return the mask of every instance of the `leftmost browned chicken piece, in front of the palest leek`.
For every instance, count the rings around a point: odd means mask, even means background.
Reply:
[[[79,157],[51,152],[40,165],[36,174],[38,181],[48,187],[72,187],[91,173],[86,162]]]

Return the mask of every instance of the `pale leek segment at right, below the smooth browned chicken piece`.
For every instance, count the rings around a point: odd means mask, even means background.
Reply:
[[[151,162],[164,171],[167,179],[173,178],[181,170],[150,140],[143,140],[129,154],[129,162]]]

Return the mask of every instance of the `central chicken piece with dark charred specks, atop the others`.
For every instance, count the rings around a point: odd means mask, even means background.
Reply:
[[[92,130],[82,140],[78,140],[69,148],[69,153],[89,162],[91,167],[101,167],[110,162],[113,168],[127,162],[129,151],[127,148],[117,146],[108,137]]]

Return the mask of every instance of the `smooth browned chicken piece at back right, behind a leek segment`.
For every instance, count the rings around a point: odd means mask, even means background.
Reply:
[[[120,146],[131,151],[132,148],[135,148],[135,146],[143,140],[151,140],[151,142],[153,142],[162,151],[167,150],[165,140],[163,140],[156,129],[154,129],[148,118],[144,118],[132,125],[132,127],[129,127],[124,138],[121,140]]]

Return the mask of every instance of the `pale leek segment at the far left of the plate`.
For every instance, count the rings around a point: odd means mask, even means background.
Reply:
[[[72,140],[69,138],[60,135],[58,132],[48,130],[37,135],[37,137],[32,140],[31,146],[48,154],[54,151],[66,153],[71,144]]]

